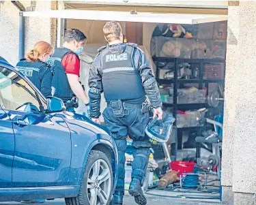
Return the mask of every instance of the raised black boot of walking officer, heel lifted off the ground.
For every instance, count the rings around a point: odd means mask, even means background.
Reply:
[[[147,204],[145,195],[141,189],[141,181],[137,178],[133,178],[129,187],[130,195],[134,196],[134,200],[139,205]]]

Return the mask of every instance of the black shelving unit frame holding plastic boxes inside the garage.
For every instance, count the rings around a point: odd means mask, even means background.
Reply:
[[[167,58],[167,57],[153,57],[153,61],[156,63],[156,80],[158,82],[158,85],[160,84],[166,84],[171,85],[173,84],[173,103],[166,103],[163,102],[163,106],[172,107],[173,110],[173,116],[175,119],[177,119],[177,110],[195,110],[199,108],[209,108],[208,104],[200,103],[200,104],[177,104],[177,87],[179,84],[199,84],[199,89],[203,88],[203,84],[205,85],[207,89],[206,95],[208,95],[209,90],[209,84],[210,83],[218,83],[222,84],[224,87],[224,79],[204,79],[203,78],[203,64],[204,63],[224,63],[224,76],[225,76],[225,60],[223,59],[175,59],[175,58]],[[173,79],[160,79],[159,78],[159,63],[160,62],[173,62],[174,63],[174,78]],[[177,72],[178,72],[178,64],[179,63],[193,63],[197,64],[199,67],[199,78],[198,79],[178,79],[177,78]],[[174,126],[176,127],[177,121],[175,121]],[[197,135],[201,135],[203,127],[180,127],[177,128],[177,143],[171,145],[171,155],[177,156],[177,148],[182,148],[182,132],[183,131],[197,131]]]

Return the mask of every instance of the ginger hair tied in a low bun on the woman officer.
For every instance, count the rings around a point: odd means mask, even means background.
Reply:
[[[27,52],[27,61],[38,61],[38,57],[40,57],[40,55],[44,53],[50,54],[51,52],[53,52],[53,46],[51,44],[44,41],[37,42],[33,46],[33,49]]]

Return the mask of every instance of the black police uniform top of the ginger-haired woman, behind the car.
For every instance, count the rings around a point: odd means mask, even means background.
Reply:
[[[53,80],[53,74],[51,65],[44,63],[40,60],[36,62],[29,62],[26,59],[21,59],[16,68],[29,78],[31,82],[41,91],[44,97],[51,95],[51,84]]]

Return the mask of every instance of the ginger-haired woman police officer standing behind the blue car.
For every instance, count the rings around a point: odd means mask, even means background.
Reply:
[[[27,52],[26,59],[21,59],[16,67],[27,76],[45,96],[51,96],[53,74],[51,66],[45,63],[53,53],[53,46],[47,42],[37,42],[32,50]]]

